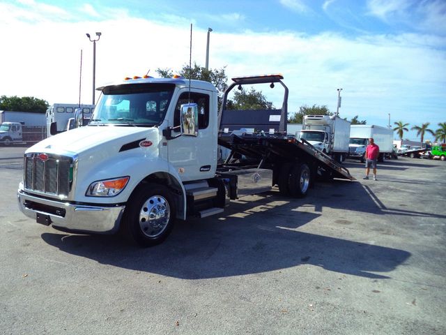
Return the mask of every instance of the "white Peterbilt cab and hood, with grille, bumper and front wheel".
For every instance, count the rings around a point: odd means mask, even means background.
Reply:
[[[200,190],[196,198],[215,193],[206,179],[217,165],[217,91],[181,78],[99,90],[87,126],[26,150],[20,209],[72,231],[114,233],[122,221],[138,244],[157,244],[170,221],[185,219],[186,188]]]

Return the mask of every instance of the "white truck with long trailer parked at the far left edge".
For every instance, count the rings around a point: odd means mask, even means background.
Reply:
[[[45,114],[0,111],[0,144],[36,143],[45,137]]]

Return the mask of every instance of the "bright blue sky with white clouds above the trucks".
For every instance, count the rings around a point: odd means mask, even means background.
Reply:
[[[40,1],[0,0],[0,95],[91,103],[92,43],[101,31],[96,84],[181,68],[189,57],[228,77],[282,73],[289,112],[301,105],[368,124],[446,121],[445,0]],[[8,34],[9,32],[9,34]],[[8,50],[8,52],[5,52]],[[280,105],[282,92],[263,90]],[[414,132],[405,137],[415,140]],[[428,137],[429,138],[429,137]]]

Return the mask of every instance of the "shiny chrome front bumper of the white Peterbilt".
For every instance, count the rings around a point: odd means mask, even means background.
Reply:
[[[67,230],[113,234],[119,228],[125,206],[112,207],[71,204],[47,200],[17,191],[20,211],[36,220],[36,215],[49,217],[50,223]]]

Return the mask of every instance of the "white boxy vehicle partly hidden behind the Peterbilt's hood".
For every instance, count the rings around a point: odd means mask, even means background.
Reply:
[[[50,128],[51,124],[54,123],[56,124],[57,133],[75,128],[75,112],[77,109],[81,110],[84,119],[89,119],[95,109],[95,105],[79,105],[77,103],[54,103],[51,105],[46,113],[47,136],[52,136]]]

